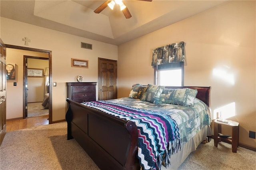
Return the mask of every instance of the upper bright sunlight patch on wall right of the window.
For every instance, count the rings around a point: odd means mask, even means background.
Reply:
[[[230,85],[235,84],[234,73],[231,73],[228,66],[214,68],[212,70],[212,75],[218,79],[221,79],[222,81],[229,83]]]

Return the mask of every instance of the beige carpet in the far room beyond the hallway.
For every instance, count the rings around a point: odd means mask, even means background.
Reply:
[[[44,109],[42,102],[28,103],[28,117],[48,115],[49,109]]]

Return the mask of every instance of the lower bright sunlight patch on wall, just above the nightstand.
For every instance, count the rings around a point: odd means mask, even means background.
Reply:
[[[228,119],[236,115],[236,103],[232,102],[214,110],[214,119],[217,117],[217,112],[222,115],[222,119]]]

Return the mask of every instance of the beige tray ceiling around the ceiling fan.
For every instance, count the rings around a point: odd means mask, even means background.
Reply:
[[[118,6],[94,10],[105,0],[1,0],[5,18],[119,45],[210,8],[226,0],[124,0],[132,17]]]

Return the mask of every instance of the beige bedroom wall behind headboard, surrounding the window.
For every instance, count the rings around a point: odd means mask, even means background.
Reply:
[[[234,102],[230,120],[240,123],[239,142],[256,147],[248,134],[256,131],[255,12],[255,1],[232,1],[119,45],[118,97],[135,83],[154,83],[152,49],[184,41],[184,85],[212,87],[212,118]]]

